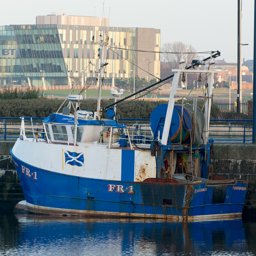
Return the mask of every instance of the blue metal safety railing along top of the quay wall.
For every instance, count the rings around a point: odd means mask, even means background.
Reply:
[[[44,118],[38,117],[24,117],[27,121],[26,127],[31,126],[31,131],[26,132],[27,138],[33,138],[33,123],[37,123],[36,128],[38,132],[44,133],[44,128],[42,123],[40,123]],[[16,139],[20,137],[20,118],[10,118],[10,117],[0,117],[0,139]],[[33,121],[33,122],[32,122]],[[119,118],[118,122],[127,125],[131,135],[137,136],[141,134],[135,134],[136,125],[141,125],[144,128],[140,128],[143,131],[144,136],[147,132],[152,135],[149,119],[136,119],[136,118]],[[143,124],[142,124],[143,122]],[[236,120],[236,119],[210,119],[209,126],[209,138],[213,138],[215,141],[227,141],[234,140],[236,142],[248,143],[252,140],[252,120]],[[138,137],[139,139],[139,137]]]

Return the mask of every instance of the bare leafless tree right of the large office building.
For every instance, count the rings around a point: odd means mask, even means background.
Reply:
[[[166,43],[161,48],[161,52],[174,52],[174,53],[161,53],[161,60],[168,63],[170,71],[173,68],[180,67],[180,60],[186,60],[187,49],[187,63],[191,64],[192,60],[196,59],[196,49],[192,45],[186,45],[182,42]]]

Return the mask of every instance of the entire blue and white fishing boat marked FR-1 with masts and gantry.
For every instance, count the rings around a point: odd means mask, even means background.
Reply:
[[[63,216],[182,220],[240,216],[248,181],[212,180],[214,141],[208,138],[208,128],[215,71],[211,64],[220,53],[192,61],[189,67],[181,61],[174,75],[146,87],[173,78],[169,102],[153,110],[150,125],[128,126],[118,123],[112,108],[128,97],[101,106],[108,37],[101,36],[98,44],[97,112],[80,110],[83,96],[70,94],[62,113],[59,109],[42,120],[41,137],[32,119],[28,128],[21,117],[20,138],[10,152],[25,200],[15,209]],[[176,95],[185,74],[205,80],[204,94],[192,96],[191,104],[184,103],[188,95]],[[181,103],[175,104],[178,98]],[[197,99],[203,100],[202,109]],[[108,118],[102,118],[103,111]],[[33,138],[28,138],[31,129]]]

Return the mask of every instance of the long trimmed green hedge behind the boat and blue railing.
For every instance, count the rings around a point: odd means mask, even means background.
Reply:
[[[113,102],[113,99],[103,101],[102,106],[108,106]],[[0,117],[46,117],[50,113],[56,112],[62,103],[62,99],[0,99]],[[153,109],[163,103],[166,104],[167,102],[142,100],[129,102],[129,100],[126,100],[117,105],[117,114],[120,115],[120,118],[150,118]],[[63,107],[67,104],[68,101],[64,103]],[[203,105],[203,102],[198,105]],[[63,107],[60,112],[62,112]],[[82,101],[80,109],[95,112],[97,110],[97,100],[87,99]],[[72,108],[71,113],[74,113]],[[211,118],[215,118],[216,113],[219,113],[219,108],[212,104]],[[106,117],[105,111],[103,111],[103,117]]]

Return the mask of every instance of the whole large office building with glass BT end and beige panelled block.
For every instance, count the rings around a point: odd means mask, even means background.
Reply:
[[[79,21],[82,18],[86,21]],[[92,37],[94,34],[94,41],[99,42],[102,34],[105,40],[105,31],[113,50],[105,50],[104,59],[109,63],[105,83],[133,77],[133,72],[139,77],[153,78],[133,64],[160,77],[158,53],[132,51],[159,51],[160,30],[93,26],[91,20],[92,17],[47,15],[37,16],[37,25],[0,26],[0,85],[47,87],[78,81],[92,58],[99,68],[98,45],[93,44]],[[89,65],[81,83],[89,81],[93,72],[94,66]]]

